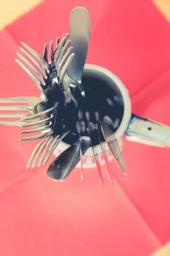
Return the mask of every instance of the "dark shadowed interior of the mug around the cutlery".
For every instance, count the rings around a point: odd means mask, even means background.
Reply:
[[[63,140],[68,144],[73,144],[79,139],[79,133],[76,123],[78,116],[82,115],[84,123],[87,125],[88,118],[90,122],[96,123],[97,119],[104,119],[105,116],[112,119],[114,131],[118,129],[121,124],[124,114],[124,100],[118,86],[111,78],[101,72],[85,71],[82,77],[82,84],[86,97],[84,98],[79,92],[79,89],[72,88],[78,108],[74,102],[67,104],[62,109],[62,129],[71,130],[70,135]],[[81,113],[81,114],[80,114]],[[84,136],[88,135],[87,130]],[[96,141],[98,144],[99,141]]]

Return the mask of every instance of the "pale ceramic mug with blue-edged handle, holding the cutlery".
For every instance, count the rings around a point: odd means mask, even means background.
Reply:
[[[118,77],[111,71],[108,71],[108,69],[98,65],[86,64],[83,70],[82,83],[84,78],[92,78],[93,80],[96,79],[97,81],[103,82],[104,86],[108,86],[109,90],[113,91],[115,100],[120,101],[123,112],[122,116],[120,117],[121,121],[118,123],[118,127],[114,135],[116,135],[121,149],[125,140],[159,147],[170,146],[170,127],[132,114],[128,90],[121,80],[118,79]],[[94,86],[96,86],[97,97],[97,83]],[[111,135],[109,137],[109,141],[112,140],[113,138]],[[61,154],[61,152],[66,150],[66,148],[69,146],[70,145],[66,144],[65,142],[59,143],[59,146],[56,148],[56,151],[54,151],[54,154],[56,156]],[[101,151],[100,145],[97,145],[97,148],[99,148],[99,151]],[[111,159],[112,155],[108,147],[107,151],[108,157]],[[104,160],[101,153],[99,155],[99,159],[100,163],[103,164]],[[91,147],[83,156],[83,164],[84,168],[93,168],[96,164]],[[78,163],[76,167],[80,167],[80,163]]]

